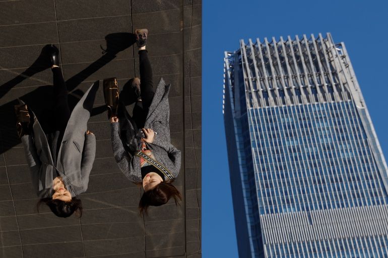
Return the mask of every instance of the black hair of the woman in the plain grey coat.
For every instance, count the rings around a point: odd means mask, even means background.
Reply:
[[[75,213],[79,218],[82,216],[82,202],[80,199],[73,197],[70,202],[64,202],[58,199],[42,198],[36,204],[36,209],[39,213],[39,206],[45,203],[50,208],[52,213],[58,217],[67,218]]]

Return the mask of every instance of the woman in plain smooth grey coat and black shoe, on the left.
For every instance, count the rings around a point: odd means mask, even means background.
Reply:
[[[17,131],[40,198],[37,207],[46,203],[59,217],[69,217],[74,212],[81,216],[78,195],[88,188],[96,153],[96,137],[87,130],[87,121],[98,84],[89,88],[70,113],[66,84],[58,66],[58,49],[53,45],[45,48],[50,53],[54,80],[53,117],[44,118],[51,119],[50,128],[43,131],[34,112],[22,102],[15,106]]]

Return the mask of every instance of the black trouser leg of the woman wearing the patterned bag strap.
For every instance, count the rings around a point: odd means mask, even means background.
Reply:
[[[152,99],[155,95],[155,89],[152,82],[152,67],[148,59],[147,50],[139,51],[140,62],[140,91],[142,101],[137,101],[133,111],[133,118],[139,129],[144,127],[147,114],[150,109]]]

